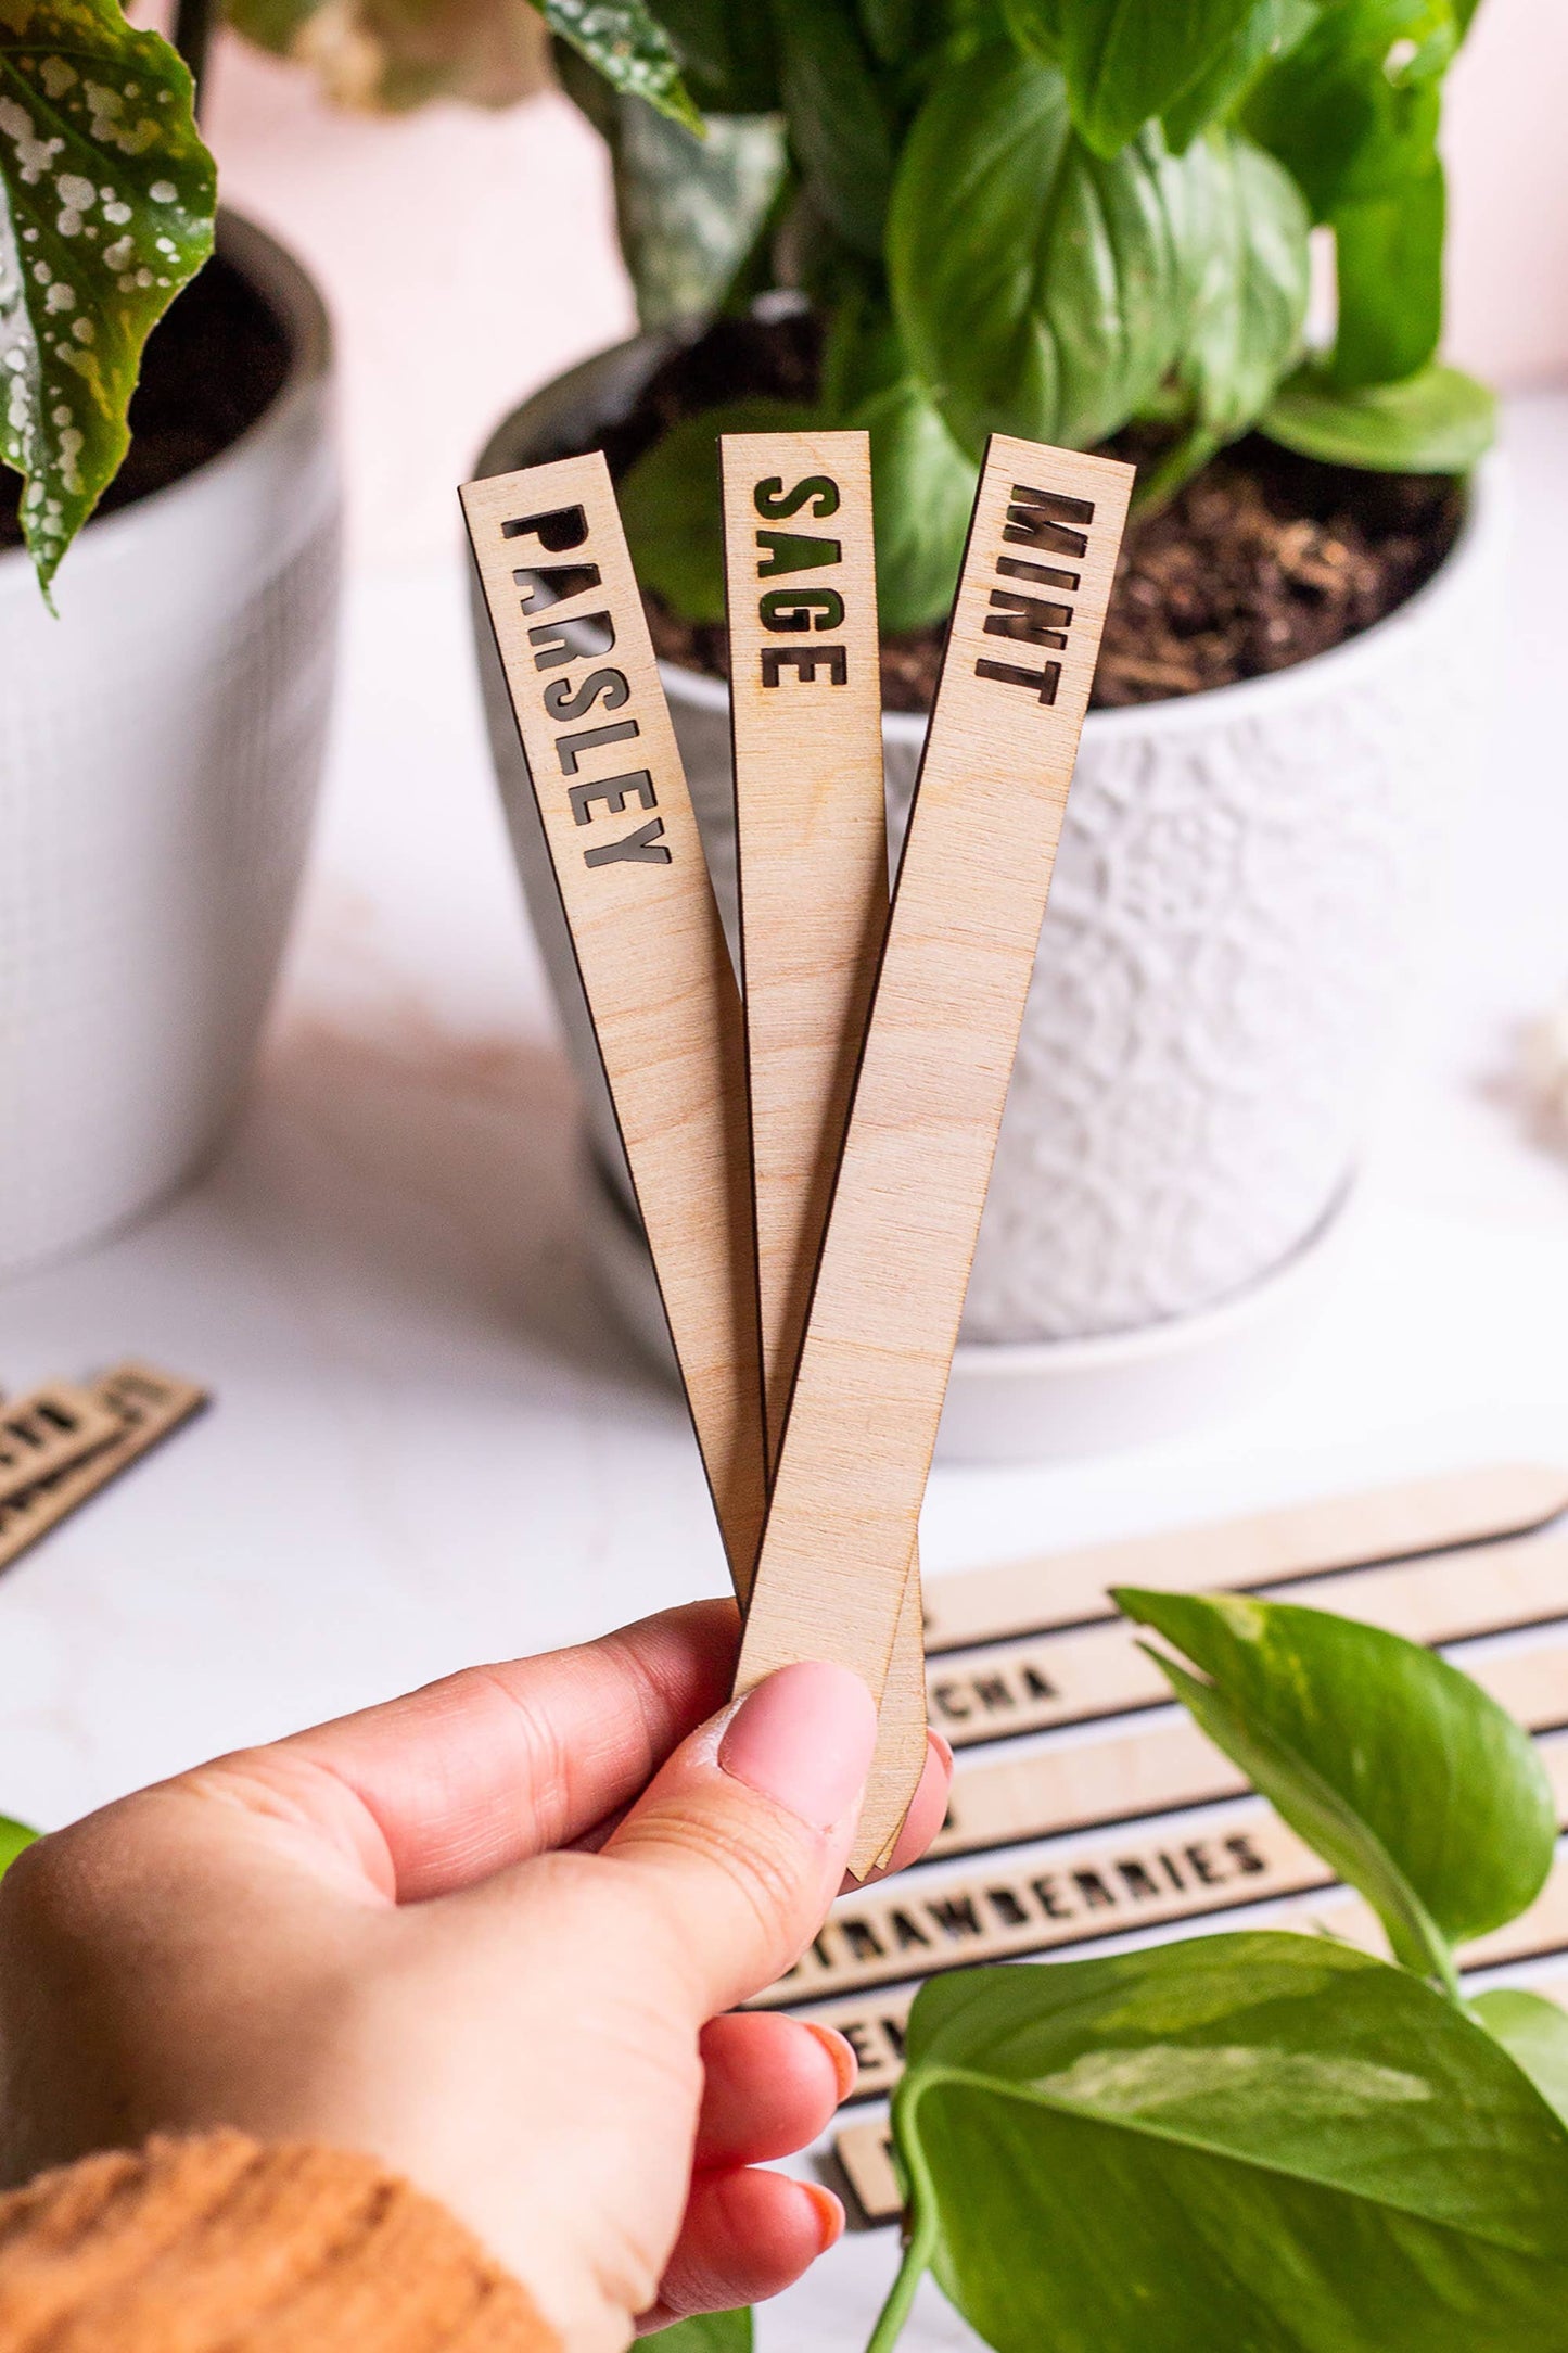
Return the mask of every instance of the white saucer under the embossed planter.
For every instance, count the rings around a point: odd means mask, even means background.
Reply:
[[[646,1358],[675,1379],[642,1228],[585,1153],[581,1200],[599,1287]],[[978,1346],[952,1358],[938,1461],[1030,1464],[1112,1454],[1258,1400],[1300,1348],[1333,1271],[1347,1191],[1272,1275],[1204,1308],[1103,1339]]]

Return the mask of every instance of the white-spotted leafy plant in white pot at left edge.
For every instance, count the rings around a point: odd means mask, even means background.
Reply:
[[[188,71],[212,5],[181,0],[176,45],[118,0],[0,7],[0,1275],[212,1151],[320,776],[327,318],[289,254],[216,212]],[[315,14],[242,0],[235,24],[296,47]],[[696,120],[639,0],[543,14]],[[341,82],[348,52],[355,92],[388,104],[503,101],[536,85],[529,26],[508,0],[367,12],[310,54]]]

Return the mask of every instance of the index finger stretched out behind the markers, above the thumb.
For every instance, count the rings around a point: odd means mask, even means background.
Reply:
[[[567,1845],[628,1805],[722,1706],[736,1642],[733,1602],[691,1602],[219,1758],[186,1786],[282,1812],[378,1892],[414,1904]]]

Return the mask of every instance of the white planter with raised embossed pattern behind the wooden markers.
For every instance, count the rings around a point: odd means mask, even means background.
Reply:
[[[508,419],[480,468],[592,445],[668,348],[644,336],[562,376]],[[1227,1334],[1246,1334],[1251,1379],[1272,1313],[1262,1297],[1298,1313],[1300,1264],[1354,1176],[1448,821],[1479,769],[1495,699],[1497,529],[1497,489],[1483,478],[1439,576],[1366,635],[1239,687],[1091,713],[964,1311],[954,1393],[973,1398],[950,1395],[947,1452],[1114,1442],[1124,1360],[1145,1405],[1121,1440],[1171,1426],[1180,1409],[1150,1400],[1161,1381],[1180,1395],[1182,1327],[1206,1362],[1225,1355]],[[625,1186],[494,654],[484,671],[595,1158]],[[663,675],[733,922],[726,687],[670,666]],[[922,736],[922,718],[886,715],[893,838]],[[1241,1299],[1248,1287],[1258,1315]],[[1150,1353],[1150,1327],[1171,1320],[1180,1325]],[[1058,1409],[1056,1435],[1039,1424],[1060,1381],[1081,1393],[1091,1379],[1103,1405]],[[1025,1402],[1004,1433],[1009,1381]],[[1218,1402],[1232,1391],[1197,1381],[1194,1402],[1199,1393]]]

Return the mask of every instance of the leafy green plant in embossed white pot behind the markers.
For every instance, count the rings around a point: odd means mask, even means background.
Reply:
[[[945,1445],[1147,1435],[1248,1388],[1307,1299],[1476,758],[1493,400],[1436,358],[1469,5],[658,14],[705,141],[562,61],[611,141],[646,332],[527,402],[482,471],[607,447],[733,901],[715,435],[870,433],[893,828],[985,435],[1138,459]],[[494,678],[491,701],[614,1172]]]

